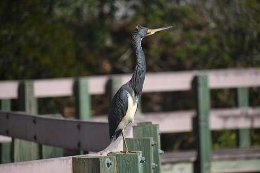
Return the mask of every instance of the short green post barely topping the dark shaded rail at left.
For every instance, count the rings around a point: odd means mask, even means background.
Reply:
[[[45,117],[62,118],[61,114],[44,114]],[[63,156],[63,148],[42,145],[42,159],[56,158]]]

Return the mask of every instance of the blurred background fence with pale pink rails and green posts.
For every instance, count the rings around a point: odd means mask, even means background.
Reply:
[[[115,93],[115,91],[118,89],[119,85],[122,82],[126,82],[127,80],[129,80],[130,77],[131,75],[115,75],[115,76],[81,77],[77,79],[63,78],[63,79],[44,79],[44,80],[34,80],[34,81],[4,81],[4,82],[0,82],[0,99],[2,99],[2,109],[10,110],[10,99],[19,99],[20,110],[24,110],[29,113],[37,113],[37,101],[36,101],[37,98],[74,95],[76,100],[77,118],[80,118],[82,120],[89,120],[90,119],[90,95],[104,94],[106,92],[106,84],[109,79],[111,79],[110,92],[113,95],[113,93]],[[192,170],[194,169],[197,172],[209,172],[212,169],[211,165],[214,168],[214,163],[211,164],[212,150],[211,150],[210,130],[240,129],[238,130],[238,146],[241,148],[250,146],[249,129],[260,127],[260,108],[249,107],[248,88],[259,87],[260,86],[259,79],[260,79],[260,69],[241,69],[241,70],[231,69],[231,70],[208,70],[208,71],[190,71],[190,72],[148,73],[146,76],[143,92],[193,90],[197,96],[196,97],[197,109],[188,110],[188,111],[157,112],[157,113],[153,113],[153,112],[142,113],[141,110],[139,110],[139,115],[136,116],[135,120],[136,122],[149,120],[153,124],[159,124],[160,129],[162,130],[163,133],[186,132],[186,131],[194,130],[194,132],[196,132],[197,141],[198,141],[197,142],[198,159],[195,159],[196,164],[194,165],[196,166],[192,168]],[[210,90],[226,89],[226,88],[237,88],[237,93],[238,93],[237,101],[239,107],[211,110]],[[8,117],[15,117],[15,116],[17,117],[17,113],[9,113]],[[36,119],[37,119],[36,121],[33,120],[32,128],[37,127],[36,129],[38,129],[40,133],[41,130],[40,128],[38,128],[38,126],[40,127],[40,123],[43,123],[44,121],[46,123],[47,120],[46,118],[44,119],[43,117],[37,117]],[[106,118],[102,116],[99,118],[91,118],[91,120],[98,121],[98,122],[106,122]],[[68,121],[71,122],[69,124],[74,123],[74,125],[77,127],[76,128],[77,131],[74,130],[75,132],[73,134],[76,133],[80,134],[81,130],[79,130],[79,127],[80,129],[82,129],[81,127],[85,127],[84,123],[81,124],[76,120],[68,120]],[[77,126],[79,124],[80,126]],[[106,126],[106,124],[103,125]],[[88,125],[86,124],[86,128],[87,126]],[[12,128],[9,128],[8,131],[7,129],[5,129],[3,133],[1,132],[1,134],[10,135],[12,131],[11,129]],[[82,132],[83,131],[85,132],[85,130],[82,130]],[[28,140],[34,139],[32,141],[41,140],[41,142],[43,142],[44,138],[40,137],[38,135],[38,132],[36,134],[37,135],[32,134],[32,136],[23,139],[28,139]],[[41,133],[41,135],[43,134]],[[104,136],[103,139],[105,138],[106,137]],[[18,139],[14,139],[13,142],[15,143],[16,140],[18,141],[17,142],[18,145],[16,146],[19,146],[21,142]],[[45,138],[45,140],[47,139]],[[84,140],[83,138],[82,139],[77,138],[77,140],[75,140],[77,142],[74,142],[72,144],[72,142],[70,141],[71,143],[68,145],[73,146],[72,147],[73,149],[86,149],[90,151],[91,150],[98,151],[100,149],[100,148],[94,149],[89,147],[89,146],[95,146],[96,143],[94,142],[91,142],[91,144],[88,146],[89,148],[86,147],[87,141],[85,141],[86,143],[84,143],[83,140]],[[44,141],[43,144],[45,142],[46,141]],[[34,144],[28,145],[29,147],[27,148],[30,148],[31,150],[36,149],[37,151],[37,146],[35,146]],[[54,145],[54,143],[45,143],[45,144],[57,146]],[[24,146],[24,143],[22,145]],[[21,148],[22,145],[20,145],[19,148]],[[2,145],[2,148],[8,148],[10,150],[11,147],[8,146],[7,143],[5,143],[5,145]],[[19,150],[14,149],[14,151],[19,151]],[[30,153],[30,151],[27,152]],[[233,153],[235,153],[235,151],[233,151]],[[167,156],[167,154],[162,155],[162,158],[164,156]],[[194,155],[193,157],[197,158],[197,156]],[[259,158],[259,156],[253,156],[253,157]],[[14,155],[14,158],[16,158],[14,159],[14,161],[22,161],[22,160],[38,159],[40,158],[40,156],[19,158],[18,155],[17,156]],[[10,157],[7,158],[6,160],[7,162],[10,161]],[[163,160],[167,160],[167,159],[163,159]],[[172,160],[174,160],[174,156],[172,157]],[[189,162],[194,161],[191,159],[188,160]],[[259,163],[258,161],[259,160],[256,160],[256,163]],[[185,162],[187,162],[187,159],[185,160]],[[165,164],[174,163],[175,167],[177,165],[176,162],[169,161],[169,159],[164,163]],[[189,166],[186,166],[185,168],[187,167]],[[171,168],[172,168],[172,164],[171,164]],[[184,167],[182,167],[181,169],[186,170],[184,169]]]

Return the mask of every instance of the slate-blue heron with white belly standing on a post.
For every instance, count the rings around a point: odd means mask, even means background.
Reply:
[[[155,32],[166,30],[172,26],[156,29],[137,25],[135,33],[132,34],[132,44],[136,55],[136,65],[132,78],[123,84],[114,95],[109,110],[109,132],[110,140],[114,142],[122,134],[125,150],[128,148],[124,137],[125,127],[134,121],[137,110],[138,96],[141,95],[145,80],[146,63],[142,50],[141,41],[144,37],[153,35]]]

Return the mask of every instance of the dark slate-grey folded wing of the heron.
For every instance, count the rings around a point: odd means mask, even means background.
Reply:
[[[128,93],[120,88],[112,99],[109,112],[110,139],[115,134],[118,124],[122,121],[128,108]]]

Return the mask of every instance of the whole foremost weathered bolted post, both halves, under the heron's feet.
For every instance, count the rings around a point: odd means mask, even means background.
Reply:
[[[142,173],[141,152],[73,157],[73,173]]]

